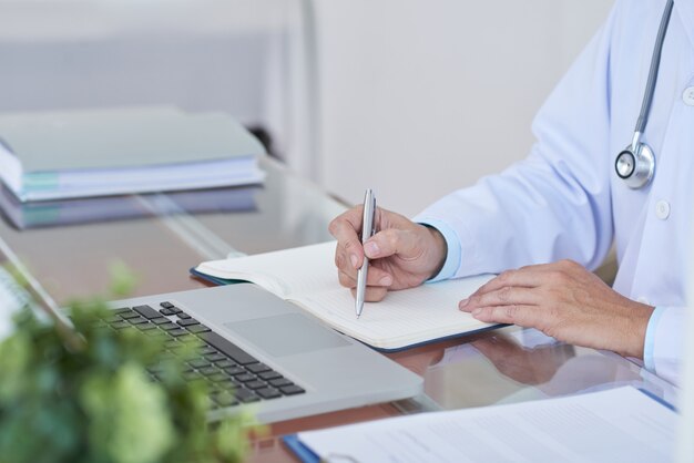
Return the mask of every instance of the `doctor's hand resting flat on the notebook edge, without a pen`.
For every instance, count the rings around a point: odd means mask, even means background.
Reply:
[[[537,328],[560,341],[639,359],[653,312],[571,260],[504,271],[459,308],[481,321]]]

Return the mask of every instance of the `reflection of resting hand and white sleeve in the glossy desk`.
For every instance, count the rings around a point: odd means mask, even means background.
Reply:
[[[440,409],[512,403],[631,384],[674,400],[674,388],[611,352],[506,327],[390,357],[425,378]],[[415,411],[422,411],[416,410]]]

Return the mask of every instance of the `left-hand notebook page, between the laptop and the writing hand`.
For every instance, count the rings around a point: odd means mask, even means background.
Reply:
[[[339,288],[335,267],[336,241],[254,256],[202,263],[196,270],[224,279],[252,281],[287,298]],[[354,307],[354,303],[353,303]]]

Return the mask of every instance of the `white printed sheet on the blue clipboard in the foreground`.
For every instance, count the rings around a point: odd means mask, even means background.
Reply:
[[[422,413],[298,434],[358,462],[667,462],[675,412],[624,387],[561,399]]]

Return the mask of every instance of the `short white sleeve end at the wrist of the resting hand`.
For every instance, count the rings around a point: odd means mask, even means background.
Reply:
[[[684,352],[686,307],[656,307],[646,329],[643,363],[661,378],[677,384]]]

